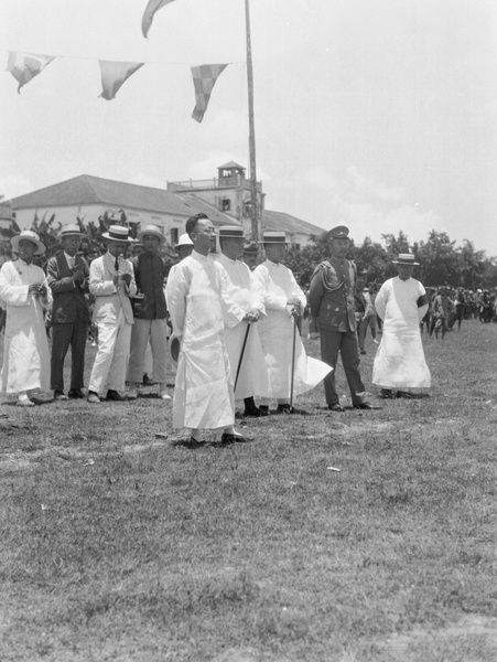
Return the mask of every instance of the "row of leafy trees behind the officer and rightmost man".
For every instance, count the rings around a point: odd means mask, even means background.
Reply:
[[[328,242],[324,234],[314,236],[313,243],[302,250],[292,248],[287,265],[299,275],[300,281],[309,286],[316,264],[329,256]],[[361,245],[350,241],[348,257],[357,264],[359,274],[367,282],[383,282],[397,275],[392,260],[399,253],[413,253],[420,266],[414,277],[424,286],[450,285],[475,290],[497,286],[497,260],[487,258],[484,250],[476,250],[473,242],[464,239],[456,246],[445,232],[432,229],[425,242],[409,243],[400,232],[381,235],[385,246],[366,237]]]

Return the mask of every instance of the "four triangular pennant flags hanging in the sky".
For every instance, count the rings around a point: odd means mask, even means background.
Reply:
[[[153,17],[156,11],[174,2],[174,0],[149,0],[143,12],[141,29],[143,36],[147,38],[152,25]],[[7,71],[12,74],[19,83],[18,93],[30,83],[35,76],[54,60],[56,55],[39,55],[35,53],[24,53],[20,51],[9,51]],[[111,100],[120,87],[132,76],[145,62],[116,62],[111,60],[98,60],[101,76],[101,98]],[[202,122],[207,110],[210,95],[217,78],[224,72],[228,64],[202,64],[191,66],[193,86],[195,90],[195,108],[192,117]]]

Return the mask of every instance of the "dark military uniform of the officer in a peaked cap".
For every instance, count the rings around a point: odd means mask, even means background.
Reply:
[[[353,405],[365,401],[366,388],[359,372],[354,291],[356,266],[347,259],[331,257],[314,270],[307,301],[314,318],[317,318],[321,338],[321,357],[333,367],[324,380],[327,405],[339,403],[335,388],[335,369],[338,352],[342,355],[345,375],[352,394]]]

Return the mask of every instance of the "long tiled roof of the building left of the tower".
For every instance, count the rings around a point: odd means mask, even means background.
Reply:
[[[19,195],[11,201],[12,210],[41,209],[85,204],[104,204],[123,210],[142,210],[187,218],[204,212],[219,225],[237,225],[236,218],[219,212],[196,195],[182,195],[162,189],[80,174],[65,182]]]

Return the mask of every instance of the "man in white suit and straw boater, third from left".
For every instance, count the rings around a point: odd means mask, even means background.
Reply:
[[[127,227],[111,225],[102,237],[107,253],[89,268],[89,291],[95,297],[93,321],[98,327],[98,350],[88,385],[88,402],[98,404],[107,384],[108,401],[126,401],[131,324],[129,297],[137,286],[132,264],[123,255],[132,239]]]

